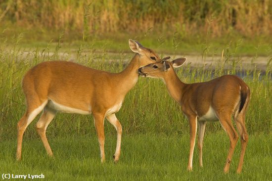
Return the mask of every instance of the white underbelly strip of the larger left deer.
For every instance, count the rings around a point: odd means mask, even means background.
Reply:
[[[72,107],[68,107],[59,103],[56,103],[52,100],[50,100],[47,104],[47,106],[51,109],[54,109],[56,111],[62,112],[62,113],[70,113],[70,114],[91,114],[91,107],[89,111],[84,111],[81,109],[76,109],[76,108],[72,108]]]

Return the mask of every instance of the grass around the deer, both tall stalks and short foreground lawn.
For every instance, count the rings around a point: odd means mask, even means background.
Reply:
[[[76,52],[64,49],[66,54],[61,54],[62,41],[54,48],[47,45],[26,48],[20,44],[21,39],[22,36],[14,37],[12,43],[0,39],[0,174],[44,174],[48,180],[270,180],[272,177],[271,50],[267,50],[269,55],[265,72],[247,70],[241,64],[237,52],[245,43],[239,41],[234,45],[226,45],[230,48],[225,49],[221,59],[214,60],[215,68],[210,65],[191,67],[187,63],[177,70],[178,76],[185,83],[235,74],[242,77],[250,87],[251,101],[246,114],[250,137],[244,169],[241,175],[235,174],[240,150],[238,142],[230,173],[225,175],[223,167],[229,141],[221,125],[207,124],[204,168],[198,166],[198,153],[195,149],[193,172],[187,172],[188,121],[162,81],[147,78],[139,79],[116,114],[123,126],[122,153],[118,164],[113,164],[111,158],[116,146],[114,128],[105,121],[107,162],[101,164],[92,116],[69,114],[57,114],[48,126],[47,137],[55,154],[53,159],[47,157],[34,129],[36,118],[24,135],[23,160],[16,162],[16,124],[26,110],[21,80],[27,70],[42,61],[70,60],[74,53],[76,58],[73,61],[100,70],[120,72],[128,64],[125,59],[133,57],[133,53],[124,51],[117,51],[113,56],[103,46],[96,51],[95,42],[79,45]],[[158,54],[162,53],[165,52],[158,51]],[[213,52],[206,45],[202,50],[203,64],[209,53]],[[257,56],[256,50],[254,57]],[[254,57],[249,61],[254,63]],[[225,69],[225,65],[230,68]]]

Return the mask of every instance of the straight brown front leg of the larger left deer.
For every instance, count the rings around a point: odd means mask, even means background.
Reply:
[[[105,151],[104,151],[104,144],[105,144],[105,134],[104,134],[104,116],[101,114],[93,114],[94,118],[94,126],[99,142],[100,147],[100,157],[101,162],[105,162]]]

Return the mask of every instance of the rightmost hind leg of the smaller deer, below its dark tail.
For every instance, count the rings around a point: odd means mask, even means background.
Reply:
[[[239,113],[236,117],[234,117],[235,124],[237,126],[240,139],[241,139],[241,153],[240,153],[240,161],[237,168],[237,173],[241,173],[244,161],[245,150],[248,142],[248,135],[245,127],[245,114]]]

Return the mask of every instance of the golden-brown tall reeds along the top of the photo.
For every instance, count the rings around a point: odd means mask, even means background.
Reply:
[[[271,35],[271,0],[1,0],[0,21],[27,28],[108,32],[177,31],[182,37],[202,32],[209,19],[213,36],[239,32]]]

